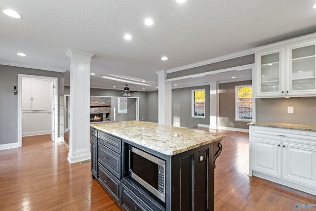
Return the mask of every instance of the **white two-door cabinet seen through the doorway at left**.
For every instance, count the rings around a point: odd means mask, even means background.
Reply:
[[[22,78],[22,111],[50,110],[50,81]]]

